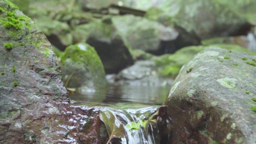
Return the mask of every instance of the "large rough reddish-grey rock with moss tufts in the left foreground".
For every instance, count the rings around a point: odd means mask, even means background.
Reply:
[[[0,33],[0,143],[106,143],[98,111],[69,105],[51,44],[8,0]]]

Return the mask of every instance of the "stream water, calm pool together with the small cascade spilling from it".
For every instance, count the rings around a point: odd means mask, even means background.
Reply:
[[[161,106],[169,88],[109,86],[70,94],[73,105],[101,110],[100,119],[109,133],[109,144],[170,144],[171,119]]]

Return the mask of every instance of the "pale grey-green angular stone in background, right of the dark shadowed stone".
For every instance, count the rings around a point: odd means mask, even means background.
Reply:
[[[161,48],[162,43],[173,41],[179,35],[174,28],[165,27],[159,22],[150,21],[140,16],[113,16],[112,22],[128,47],[151,53],[164,51]]]

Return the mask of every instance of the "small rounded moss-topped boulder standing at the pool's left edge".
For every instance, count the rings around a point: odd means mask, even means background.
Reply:
[[[99,89],[107,84],[100,57],[85,43],[65,49],[61,55],[61,70],[67,88]]]

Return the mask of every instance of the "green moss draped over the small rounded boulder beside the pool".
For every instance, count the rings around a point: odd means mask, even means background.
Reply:
[[[103,64],[92,46],[86,43],[78,43],[76,45],[68,46],[60,59],[62,69],[69,71],[69,78],[64,79],[67,87],[74,88],[74,86],[82,85],[83,82],[79,83],[77,80],[73,80],[73,77],[80,75],[78,70],[81,69],[81,67],[85,67],[92,73],[91,80],[93,80],[95,87],[102,88],[103,86],[106,86]],[[70,71],[70,66],[66,67],[70,64],[72,64],[72,67],[75,67],[77,70]]]

